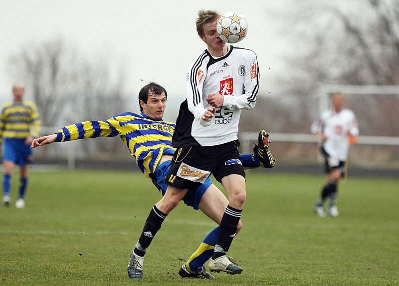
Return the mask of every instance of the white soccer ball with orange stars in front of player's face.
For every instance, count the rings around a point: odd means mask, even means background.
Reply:
[[[240,13],[227,12],[218,19],[216,30],[226,43],[237,43],[246,36],[248,25]]]

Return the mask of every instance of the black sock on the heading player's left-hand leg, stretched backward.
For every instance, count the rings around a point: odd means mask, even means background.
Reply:
[[[152,208],[139,238],[139,244],[143,249],[146,249],[150,246],[153,238],[161,228],[161,225],[164,222],[166,216],[167,214],[164,214],[163,212],[158,210],[157,206],[154,206]],[[139,256],[144,256],[145,254],[145,252],[137,249],[137,247],[134,249],[134,253]]]

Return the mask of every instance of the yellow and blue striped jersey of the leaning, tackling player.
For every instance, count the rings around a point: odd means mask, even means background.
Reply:
[[[137,165],[151,180],[162,155],[173,155],[172,135],[175,123],[153,120],[144,113],[124,112],[106,121],[85,121],[68,125],[57,132],[58,142],[94,137],[120,136],[128,146]]]

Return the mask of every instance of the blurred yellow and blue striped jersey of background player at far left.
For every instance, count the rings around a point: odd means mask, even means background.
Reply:
[[[40,119],[31,101],[8,101],[1,108],[0,142],[3,138],[38,137]]]

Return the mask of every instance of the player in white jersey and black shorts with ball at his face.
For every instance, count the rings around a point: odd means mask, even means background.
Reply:
[[[165,178],[167,192],[150,211],[133,255],[144,256],[161,224],[187,190],[199,186],[213,173],[225,188],[229,203],[222,210],[209,269],[239,274],[242,268],[231,262],[225,252],[237,232],[246,198],[245,173],[238,152],[239,116],[241,109],[255,106],[259,68],[253,51],[233,47],[220,39],[216,32],[219,17],[216,11],[199,12],[197,31],[207,49],[187,75],[187,99],[180,106],[172,137],[172,144],[178,149]],[[268,143],[266,133],[261,139]],[[273,167],[274,159],[269,153],[266,156],[266,167]]]

